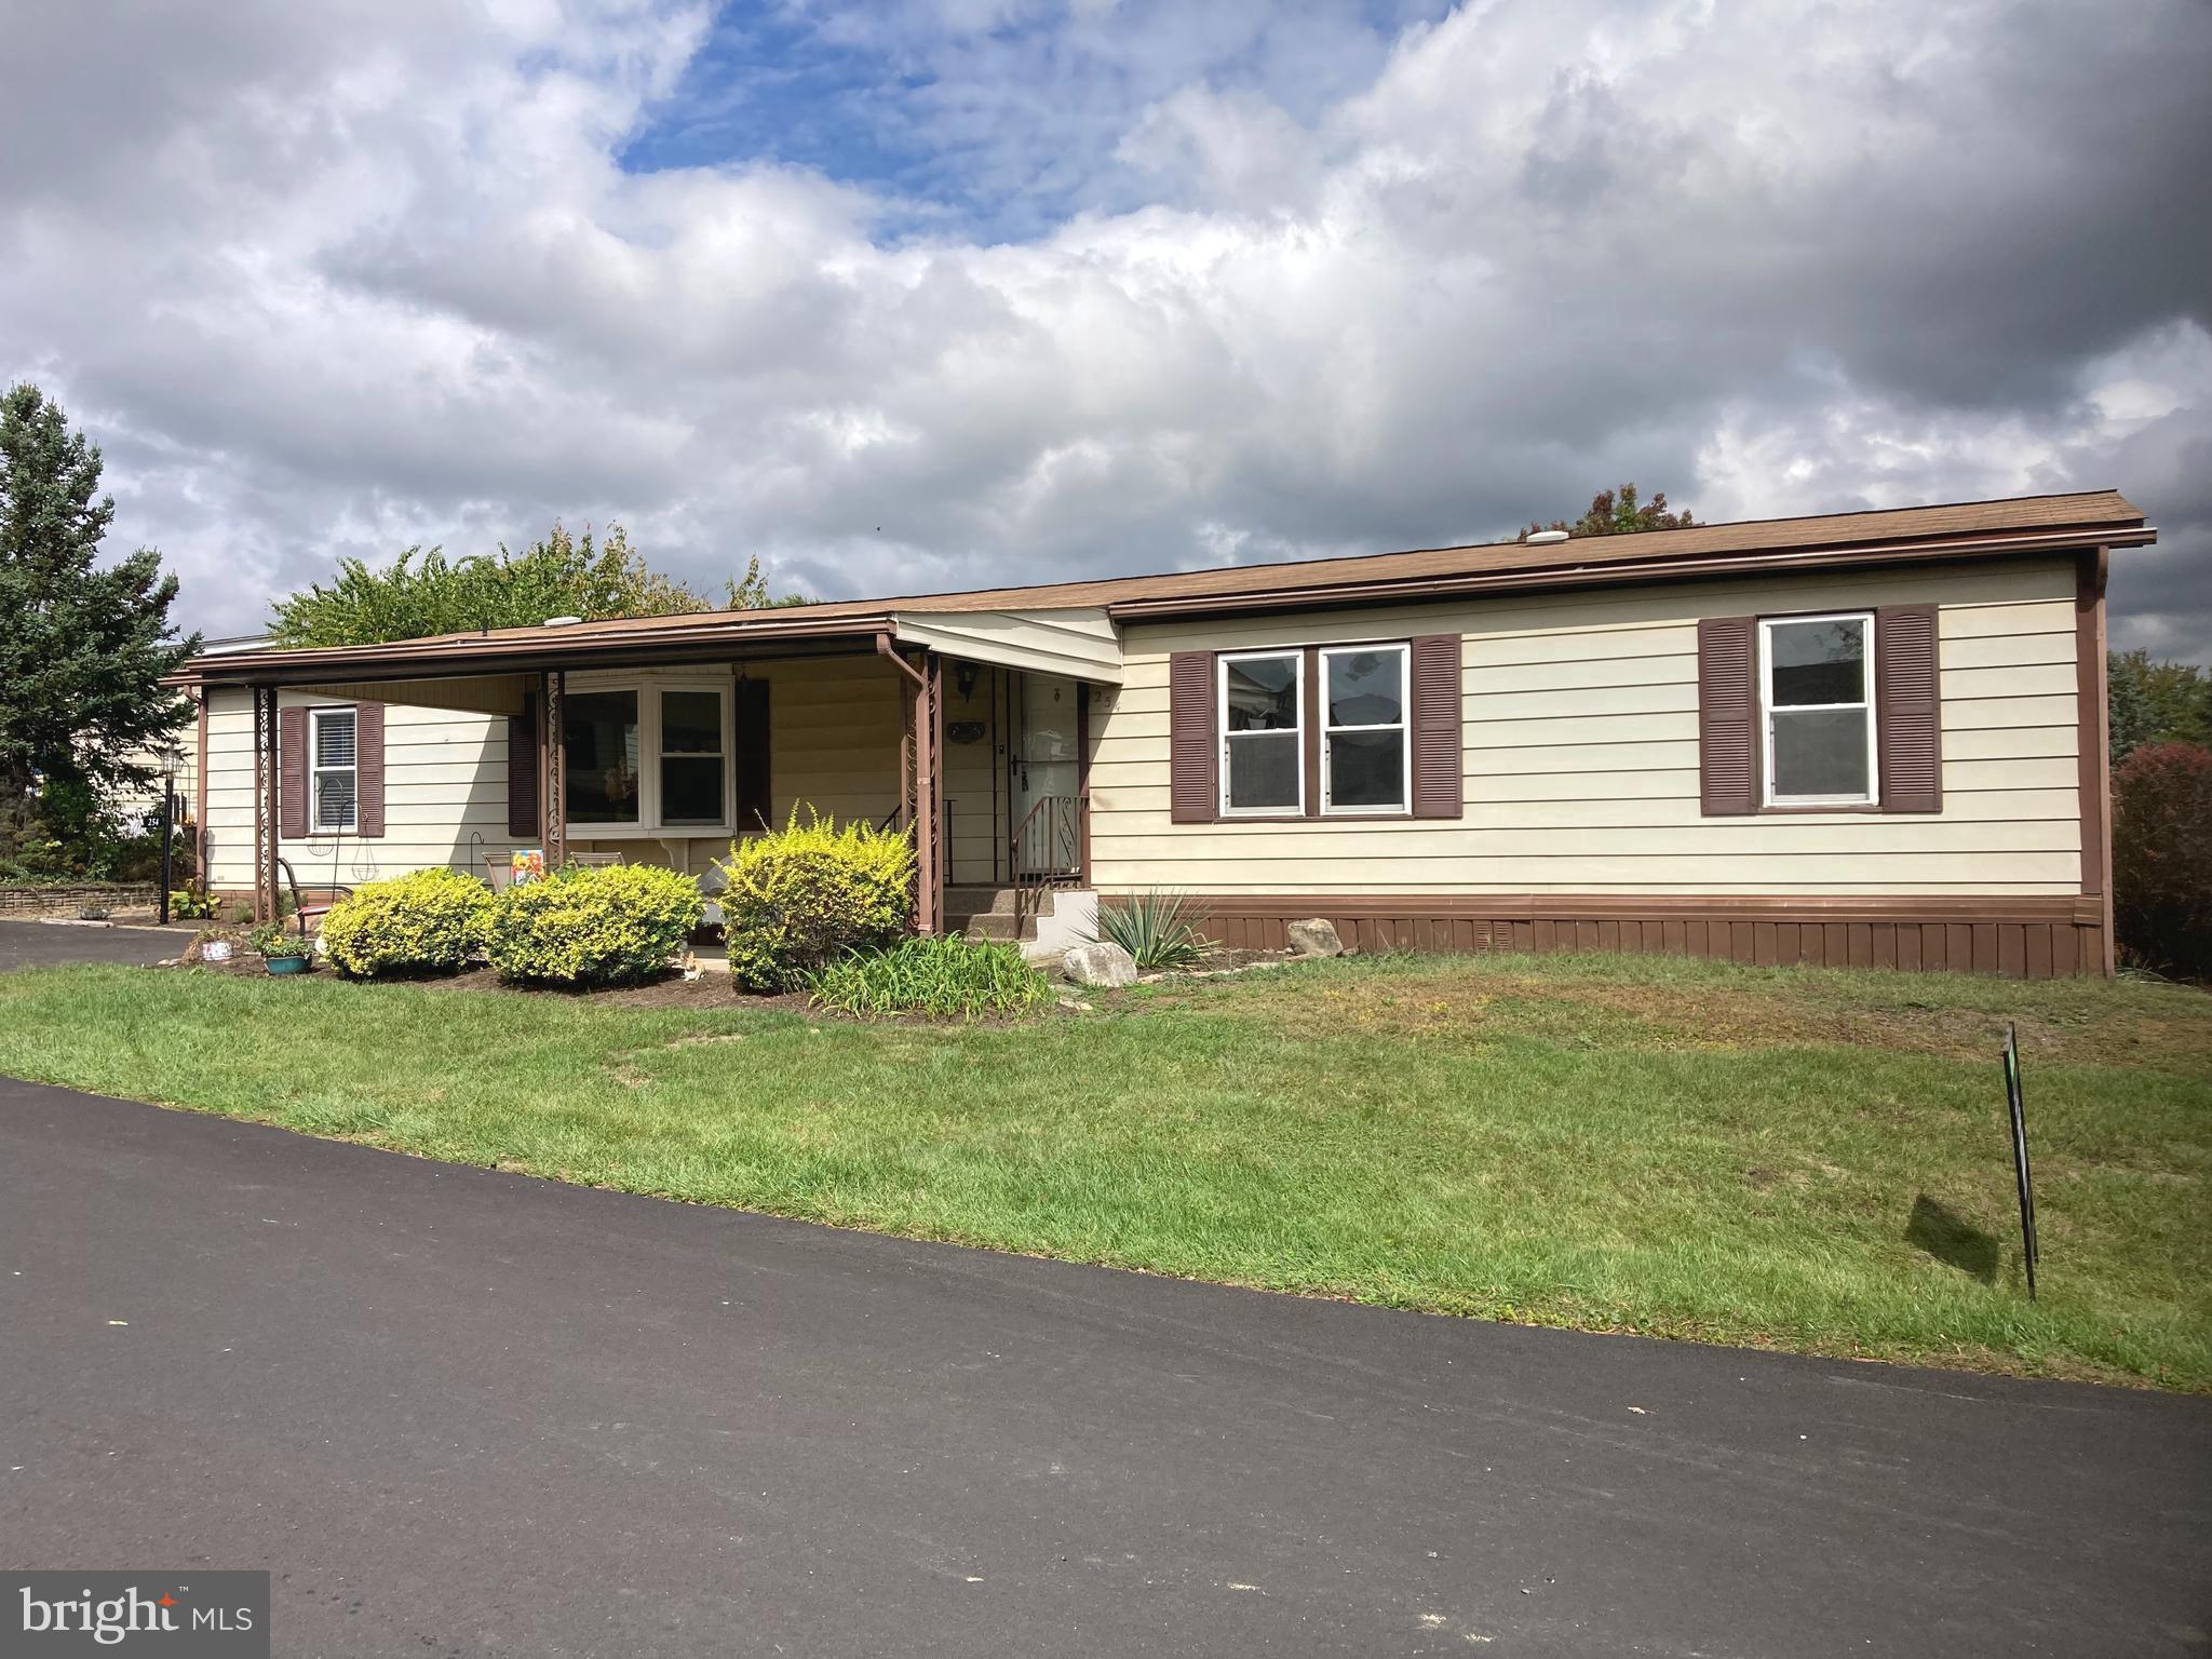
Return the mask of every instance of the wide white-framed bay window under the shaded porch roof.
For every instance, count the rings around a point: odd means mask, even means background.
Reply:
[[[571,679],[562,805],[571,834],[730,834],[730,681]]]

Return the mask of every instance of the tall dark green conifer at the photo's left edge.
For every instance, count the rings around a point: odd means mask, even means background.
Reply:
[[[0,854],[104,874],[108,799],[148,781],[128,757],[184,723],[161,686],[199,635],[168,619],[177,577],[150,546],[100,564],[115,498],[100,449],[35,385],[0,398]],[[35,849],[35,852],[33,852]]]

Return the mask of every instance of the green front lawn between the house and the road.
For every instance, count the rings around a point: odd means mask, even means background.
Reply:
[[[0,978],[0,1073],[1225,1283],[2212,1391],[2179,987],[1367,958],[960,1029],[53,969]]]

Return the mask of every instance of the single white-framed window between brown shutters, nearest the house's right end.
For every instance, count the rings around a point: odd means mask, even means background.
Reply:
[[[1871,611],[1761,619],[1759,688],[1767,805],[1876,799]]]

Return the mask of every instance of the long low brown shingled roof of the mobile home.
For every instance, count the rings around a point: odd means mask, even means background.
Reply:
[[[803,644],[818,635],[865,635],[891,626],[898,611],[1046,611],[1104,606],[1115,615],[1276,608],[1296,602],[1356,602],[1511,582],[1513,586],[1582,584],[1593,580],[1648,580],[1703,575],[1734,564],[1772,564],[1785,555],[1823,562],[1867,562],[1911,553],[2006,553],[2062,544],[2128,544],[2154,538],[2143,513],[2119,491],[2020,495],[1947,507],[1902,507],[1874,513],[1765,518],[1734,524],[1694,524],[1679,531],[1588,535],[1553,544],[1486,542],[1411,553],[1367,553],[1343,560],[1287,564],[1232,564],[1166,575],[1124,575],[1095,582],[1046,582],[1022,588],[911,593],[887,599],[838,599],[776,611],[701,611],[677,617],[626,617],[562,628],[491,628],[434,635],[385,646],[325,650],[226,653],[197,659],[199,677],[243,679],[252,668],[330,670],[434,666],[447,657],[504,661],[544,653],[604,655],[626,644],[688,646],[708,639]]]

